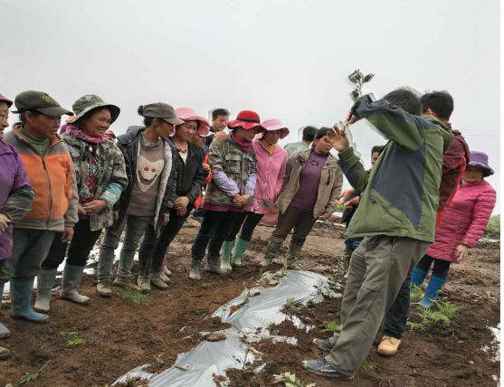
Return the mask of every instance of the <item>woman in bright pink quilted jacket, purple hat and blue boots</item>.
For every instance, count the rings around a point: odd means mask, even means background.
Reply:
[[[421,287],[434,264],[433,277],[420,303],[422,307],[433,307],[433,301],[448,281],[452,263],[467,260],[469,250],[478,244],[487,230],[497,203],[496,191],[485,181],[491,175],[494,171],[490,168],[489,156],[471,152],[471,163],[452,207],[437,230],[436,241],[414,269],[413,286]]]

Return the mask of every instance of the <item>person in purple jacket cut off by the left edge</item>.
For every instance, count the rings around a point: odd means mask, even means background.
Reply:
[[[35,197],[19,153],[3,141],[12,106],[13,102],[0,94],[0,268],[13,251],[13,223],[21,221],[31,210]],[[0,305],[3,294],[4,284],[0,284]],[[0,339],[10,335],[7,327],[0,324]],[[10,352],[0,347],[0,360],[9,357]]]

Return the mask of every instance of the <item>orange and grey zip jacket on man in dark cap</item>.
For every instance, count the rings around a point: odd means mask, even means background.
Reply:
[[[32,211],[14,228],[62,232],[77,224],[77,183],[65,142],[54,137],[47,155],[42,157],[17,129],[5,134],[4,141],[18,150],[35,192]]]

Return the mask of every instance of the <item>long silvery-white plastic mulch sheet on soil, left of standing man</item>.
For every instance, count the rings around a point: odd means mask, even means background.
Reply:
[[[262,354],[255,351],[247,343],[271,338],[275,341],[296,345],[295,338],[272,337],[268,331],[271,325],[279,325],[286,319],[291,319],[300,328],[303,326],[296,317],[287,316],[282,310],[291,305],[309,305],[320,303],[324,297],[323,289],[328,289],[328,278],[308,271],[289,271],[287,277],[279,278],[275,288],[245,289],[240,297],[219,308],[213,317],[221,317],[224,323],[232,328],[224,331],[226,340],[217,343],[204,342],[193,351],[179,354],[175,365],[164,373],[152,375],[142,372],[142,368],[134,370],[134,379],[143,378],[149,387],[216,387],[215,376],[226,377],[226,370],[243,369],[253,365],[255,372],[260,373],[265,368]],[[267,274],[266,280],[271,284],[274,275]],[[339,296],[339,295],[333,295]],[[231,308],[243,307],[231,315]],[[143,367],[145,369],[145,367]],[[118,382],[125,382],[126,376]],[[116,383],[118,383],[116,382]],[[226,382],[219,382],[221,386]]]

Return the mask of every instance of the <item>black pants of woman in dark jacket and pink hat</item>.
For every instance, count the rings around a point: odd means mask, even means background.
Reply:
[[[193,211],[193,204],[187,206],[185,216],[176,216],[176,211],[170,212],[170,221],[161,232],[161,237],[157,239],[154,226],[149,226],[144,237],[139,252],[140,273],[159,273],[163,261],[166,257],[166,251],[169,249],[176,236],[182,230],[189,214]]]

